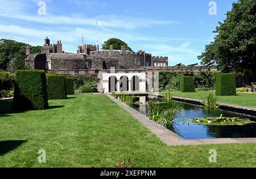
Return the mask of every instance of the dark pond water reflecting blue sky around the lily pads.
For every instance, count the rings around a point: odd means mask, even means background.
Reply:
[[[140,97],[139,100],[141,102],[146,102],[158,101],[159,99]],[[256,138],[256,124],[247,124],[243,126],[213,126],[192,123],[193,118],[217,117],[221,114],[225,117],[250,118],[254,121],[256,121],[256,117],[254,118],[245,114],[220,109],[209,112],[205,111],[203,106],[191,105],[184,102],[172,101],[172,104],[182,107],[182,111],[169,129],[184,139]],[[144,115],[148,113],[148,104],[140,103],[133,107]]]

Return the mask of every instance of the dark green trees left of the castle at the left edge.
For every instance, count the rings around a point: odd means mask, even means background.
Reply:
[[[7,69],[12,59],[26,55],[27,44],[15,40],[0,39],[0,69]],[[31,53],[41,53],[40,46],[31,47]]]

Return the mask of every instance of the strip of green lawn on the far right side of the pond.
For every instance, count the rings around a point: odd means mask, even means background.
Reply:
[[[209,94],[209,91],[197,91],[194,93],[181,93],[180,91],[171,91],[171,94],[176,97],[201,99],[200,95],[205,97],[207,94]],[[256,107],[256,93],[237,93],[236,96],[218,96],[217,102],[228,103],[230,105]]]

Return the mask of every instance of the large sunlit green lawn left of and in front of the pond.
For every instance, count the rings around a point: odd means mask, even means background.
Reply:
[[[130,156],[142,167],[256,167],[256,144],[168,147],[103,94],[49,101],[14,113],[0,101],[0,167],[106,167]],[[38,163],[39,149],[46,163]],[[217,163],[209,163],[216,149]]]

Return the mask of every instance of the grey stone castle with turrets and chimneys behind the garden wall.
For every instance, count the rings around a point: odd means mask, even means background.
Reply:
[[[130,52],[122,46],[120,50],[98,50],[98,45],[82,44],[78,46],[77,53],[63,51],[61,40],[51,44],[48,37],[40,54],[30,54],[30,47],[26,49],[26,63],[31,69],[49,70],[54,73],[69,74],[69,71],[79,73],[79,70],[108,70],[138,69],[143,66],[168,66],[168,57],[155,57],[144,51]]]

